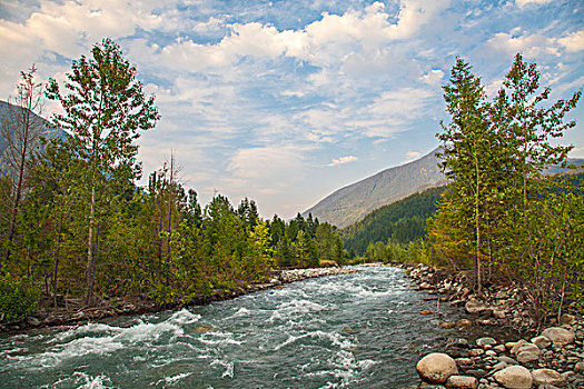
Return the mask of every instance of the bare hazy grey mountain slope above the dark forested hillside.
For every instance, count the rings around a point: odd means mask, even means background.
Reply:
[[[438,169],[437,151],[339,189],[303,215],[306,217],[311,213],[320,221],[343,228],[362,220],[379,207],[445,184],[446,178]]]

